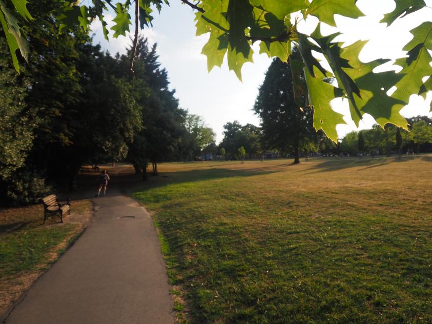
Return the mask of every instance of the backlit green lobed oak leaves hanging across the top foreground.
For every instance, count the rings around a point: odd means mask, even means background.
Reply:
[[[292,45],[299,46],[301,59],[291,62],[296,70],[305,72],[305,84],[294,78],[296,97],[308,98],[308,105],[314,109],[314,127],[337,141],[336,125],[344,124],[342,115],[335,112],[330,102],[335,98],[346,98],[351,117],[358,125],[364,114],[372,115],[384,127],[394,124],[403,129],[408,123],[400,110],[408,103],[409,96],[426,96],[432,90],[432,22],[419,22],[410,32],[413,38],[404,46],[404,57],[396,60],[402,70],[375,73],[373,70],[388,62],[388,59],[364,63],[359,54],[366,41],[344,46],[335,41],[339,33],[323,35],[321,25],[336,26],[335,14],[359,18],[363,13],[356,6],[356,0],[198,0],[195,4],[181,0],[196,13],[196,34],[210,35],[202,49],[208,57],[208,68],[221,66],[227,57],[230,70],[241,78],[241,67],[252,62],[252,45],[259,42],[260,53],[277,56],[286,61]],[[135,46],[131,51],[131,68],[136,56],[139,28],[151,26],[153,9],[160,11],[168,0],[140,0],[115,2],[112,0],[91,0],[89,2],[56,0],[59,7],[55,19],[60,22],[62,32],[72,31],[75,26],[88,30],[93,19],[98,18],[108,38],[105,16],[108,8],[115,11],[113,19],[114,37],[125,35],[133,25],[129,9],[135,9]],[[15,69],[19,69],[16,51],[27,59],[29,47],[25,26],[36,23],[26,0],[2,0],[0,2],[0,23],[5,32]],[[423,0],[395,0],[395,8],[386,13],[382,23],[397,24],[405,16],[426,8]],[[311,34],[299,30],[299,22],[308,16],[315,16],[319,23]],[[326,70],[314,53],[324,56],[330,66]],[[295,67],[294,67],[295,66]],[[337,80],[335,84],[325,81],[328,77]],[[391,95],[387,92],[396,87]],[[432,107],[431,107],[432,110]]]

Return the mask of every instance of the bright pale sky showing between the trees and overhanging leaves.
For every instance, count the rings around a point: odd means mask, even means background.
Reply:
[[[425,2],[432,7],[432,0]],[[340,31],[342,35],[338,36],[337,40],[346,42],[347,45],[359,39],[370,39],[360,53],[363,62],[380,57],[403,57],[405,52],[402,47],[412,38],[409,30],[432,19],[432,9],[424,8],[399,19],[391,28],[385,28],[386,25],[379,21],[383,13],[390,12],[395,7],[392,0],[359,0],[357,6],[365,17],[351,19],[335,15],[337,29],[324,26],[322,33]],[[272,59],[264,54],[257,54],[259,50],[255,46],[254,64],[246,63],[243,66],[242,82],[233,71],[229,71],[226,59],[221,68],[215,67],[208,73],[207,57],[200,53],[209,36],[195,36],[194,17],[189,6],[182,4],[180,0],[171,0],[170,7],[164,6],[160,14],[155,13],[153,28],[146,28],[141,33],[148,37],[150,44],[157,43],[159,61],[168,71],[171,88],[176,90],[180,107],[188,109],[191,114],[202,116],[205,123],[216,132],[218,143],[223,138],[223,125],[228,122],[237,120],[242,125],[250,123],[259,126],[260,120],[254,115],[252,108]],[[107,15],[107,18],[110,19],[110,16]],[[303,21],[298,28],[302,32],[310,33],[316,24],[317,19],[311,17]],[[92,31],[95,34],[94,43],[99,43],[102,49],[109,50],[113,55],[117,52],[124,54],[126,48],[132,44],[130,34],[126,37],[110,37],[107,42],[102,35],[100,22],[97,21],[92,24]],[[391,66],[392,62],[386,64],[387,69],[395,69]],[[413,95],[409,105],[404,107],[401,113],[405,117],[432,116],[429,113],[430,100],[432,93],[428,93],[426,100]],[[342,113],[347,122],[347,125],[337,126],[340,138],[352,130],[357,130],[349,117],[346,100],[335,99],[332,107]],[[371,128],[373,124],[373,118],[365,115],[359,129]]]

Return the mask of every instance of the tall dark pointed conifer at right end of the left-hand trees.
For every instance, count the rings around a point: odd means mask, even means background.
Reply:
[[[136,173],[145,172],[150,161],[153,175],[157,175],[157,164],[174,158],[179,151],[186,111],[179,108],[175,90],[169,90],[168,73],[160,68],[156,44],[149,49],[147,39],[140,37],[137,56],[134,78],[143,80],[149,91],[139,99],[145,126],[129,144],[128,160]]]

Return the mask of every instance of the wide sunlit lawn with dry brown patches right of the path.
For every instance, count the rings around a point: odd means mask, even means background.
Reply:
[[[432,322],[431,162],[162,164],[133,196],[192,322]]]

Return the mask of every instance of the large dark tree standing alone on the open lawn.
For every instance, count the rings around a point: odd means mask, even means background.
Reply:
[[[261,118],[263,142],[267,149],[294,155],[317,140],[313,128],[313,111],[299,108],[295,102],[290,65],[276,58],[265,74],[254,106]]]

